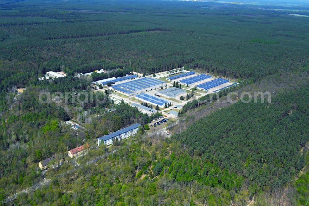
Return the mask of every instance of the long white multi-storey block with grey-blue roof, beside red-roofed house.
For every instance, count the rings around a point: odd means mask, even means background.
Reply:
[[[121,130],[115,131],[111,134],[105,135],[103,137],[98,138],[98,146],[102,143],[105,145],[113,144],[113,139],[117,138],[118,140],[128,138],[138,132],[138,127],[140,124],[133,124],[129,127],[123,128]]]

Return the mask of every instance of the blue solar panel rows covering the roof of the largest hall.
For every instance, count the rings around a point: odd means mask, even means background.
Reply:
[[[125,92],[126,94],[132,94],[138,90],[146,89],[163,83],[165,82],[158,79],[147,77],[147,78],[139,78],[122,84],[113,85],[111,87],[115,90]]]

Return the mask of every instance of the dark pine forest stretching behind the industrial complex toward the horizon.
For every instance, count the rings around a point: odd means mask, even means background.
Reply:
[[[153,73],[187,65],[258,79],[308,58],[307,19],[258,7],[23,1],[1,8],[1,57],[30,61],[42,73],[113,65]]]

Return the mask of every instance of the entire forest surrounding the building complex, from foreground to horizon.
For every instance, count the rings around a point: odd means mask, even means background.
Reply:
[[[308,18],[291,11],[307,15],[309,6],[1,1],[0,205],[307,206]],[[170,138],[145,131],[162,114],[117,105],[91,84],[179,67],[240,84],[191,97],[163,128]],[[100,69],[107,73],[76,77]],[[39,81],[47,71],[67,76]],[[272,98],[217,102],[232,91]],[[142,127],[134,137],[97,146],[96,138],[135,123]],[[85,143],[87,155],[67,157]],[[41,171],[38,163],[54,154],[63,165]]]

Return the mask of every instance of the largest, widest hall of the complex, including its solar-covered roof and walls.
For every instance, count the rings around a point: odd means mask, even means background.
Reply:
[[[165,85],[167,85],[166,82],[151,77],[145,77],[122,84],[113,85],[110,88],[121,94],[133,96],[142,92],[159,89],[161,86],[165,87]]]

